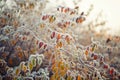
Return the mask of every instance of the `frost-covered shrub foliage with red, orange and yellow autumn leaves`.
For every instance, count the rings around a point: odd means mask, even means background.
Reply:
[[[118,60],[110,60],[120,38],[95,32],[105,21],[84,25],[93,6],[84,13],[78,6],[46,10],[47,3],[0,1],[0,79],[120,79],[119,66],[111,66]]]

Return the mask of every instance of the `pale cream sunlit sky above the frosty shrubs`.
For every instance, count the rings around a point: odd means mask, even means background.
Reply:
[[[107,21],[106,27],[110,28],[109,34],[120,35],[120,0],[48,0],[46,8],[64,5],[74,8],[80,6],[79,11],[87,12],[90,5],[94,6],[89,18],[93,20],[102,11],[103,19]],[[75,3],[75,4],[74,4]]]

